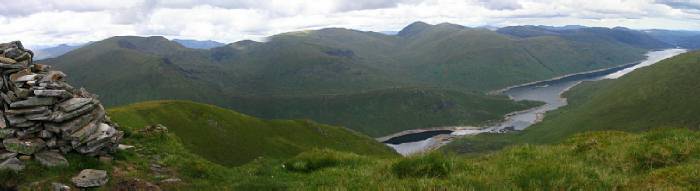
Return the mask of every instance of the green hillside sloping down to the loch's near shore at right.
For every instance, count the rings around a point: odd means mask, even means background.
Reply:
[[[468,137],[447,149],[473,152],[509,144],[552,143],[592,130],[698,129],[698,73],[700,52],[685,53],[617,80],[578,86],[565,94],[570,105],[547,113],[543,122],[522,132]]]

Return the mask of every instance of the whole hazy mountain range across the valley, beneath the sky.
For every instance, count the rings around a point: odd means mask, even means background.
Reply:
[[[385,135],[409,128],[498,120],[522,105],[489,98],[484,92],[627,64],[642,59],[646,50],[614,38],[517,38],[448,23],[417,22],[396,36],[330,28],[210,50],[188,49],[163,37],[113,37],[44,62],[68,74],[71,84],[104,95],[101,100],[107,106],[186,99],[261,118],[310,118]],[[396,91],[410,87],[426,87],[420,90],[425,93]],[[445,96],[445,91],[453,93]],[[372,97],[373,92],[392,93]],[[457,94],[464,97],[457,99]],[[327,95],[339,98],[327,103],[323,100]],[[427,101],[414,104],[389,97]],[[303,111],[287,103],[299,100],[306,103]],[[479,103],[485,100],[494,102]],[[435,102],[455,106],[436,113],[427,106]],[[256,104],[264,107],[253,107]],[[364,104],[369,105],[360,106]],[[360,112],[374,118],[338,118]],[[391,117],[393,113],[399,115]],[[402,117],[420,123],[407,125]]]

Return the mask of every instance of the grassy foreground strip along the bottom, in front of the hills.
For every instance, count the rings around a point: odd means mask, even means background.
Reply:
[[[150,103],[153,105],[154,103]],[[82,168],[107,170],[111,190],[138,178],[166,190],[647,190],[699,189],[700,132],[658,128],[643,133],[599,131],[554,145],[519,145],[479,156],[442,152],[409,158],[310,149],[287,158],[261,157],[242,166],[221,165],[187,146],[194,137],[144,133],[123,127],[124,144],[111,164],[69,155],[71,166],[36,162],[16,174],[0,172],[0,185],[21,190],[69,183]],[[174,129],[174,128],[171,128]],[[209,137],[199,137],[208,139]],[[211,139],[211,138],[209,138]],[[238,153],[238,150],[230,150]],[[166,169],[150,169],[158,164]]]

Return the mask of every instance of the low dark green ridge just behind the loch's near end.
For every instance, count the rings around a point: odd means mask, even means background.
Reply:
[[[512,111],[539,105],[433,88],[397,88],[354,94],[236,97],[231,108],[268,118],[310,118],[344,125],[373,137],[403,130],[449,125],[479,125]]]

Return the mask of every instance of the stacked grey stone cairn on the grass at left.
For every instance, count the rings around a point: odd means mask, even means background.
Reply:
[[[0,169],[22,170],[20,159],[61,166],[69,152],[116,151],[124,133],[96,96],[67,84],[63,72],[34,64],[33,55],[19,41],[0,44]]]

